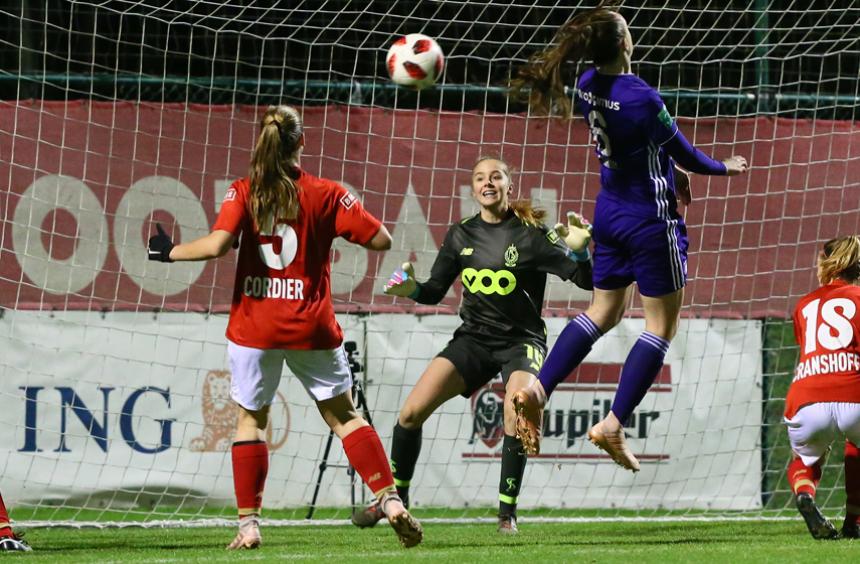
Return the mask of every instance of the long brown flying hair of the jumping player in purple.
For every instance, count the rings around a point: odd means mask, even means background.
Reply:
[[[575,15],[555,34],[553,44],[529,57],[511,80],[509,95],[528,102],[535,115],[558,114],[569,118],[570,97],[565,94],[561,65],[565,61],[589,60],[595,65],[618,56],[625,34],[624,20],[615,1],[601,1],[597,7]]]

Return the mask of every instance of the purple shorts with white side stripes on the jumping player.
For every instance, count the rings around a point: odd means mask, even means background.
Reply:
[[[631,215],[600,201],[594,212],[594,287],[625,288],[636,282],[643,296],[657,297],[687,283],[687,226],[676,212],[667,219]]]

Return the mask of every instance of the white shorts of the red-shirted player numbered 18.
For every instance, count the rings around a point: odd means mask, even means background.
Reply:
[[[822,402],[801,407],[794,417],[786,418],[791,450],[807,466],[818,462],[830,448],[837,431],[860,445],[860,403]]]

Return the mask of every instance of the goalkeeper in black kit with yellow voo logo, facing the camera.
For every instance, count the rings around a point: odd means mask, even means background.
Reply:
[[[437,304],[459,275],[463,282],[460,317],[454,338],[427,366],[400,410],[391,446],[391,467],[401,499],[408,505],[409,485],[421,451],[421,426],[440,405],[457,395],[469,397],[499,372],[506,398],[535,381],[546,354],[541,319],[547,273],[591,289],[587,224],[569,214],[559,233],[541,223],[542,210],[528,201],[509,202],[513,186],[508,165],[479,159],[472,169],[477,215],[448,230],[430,279],[418,283],[405,263],[385,293]],[[516,533],[516,507],[526,457],[516,440],[515,414],[505,401],[502,474],[499,481],[499,531]],[[372,526],[382,518],[378,504],[357,513],[353,522]]]

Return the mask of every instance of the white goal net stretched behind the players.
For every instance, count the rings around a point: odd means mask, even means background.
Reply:
[[[224,329],[235,255],[165,265],[148,262],[145,245],[156,222],[181,241],[208,232],[246,174],[267,104],[301,109],[303,168],[342,182],[392,232],[390,251],[340,241],[332,256],[338,319],[386,448],[459,325],[462,289],[424,307],[384,296],[382,283],[405,260],[426,277],[448,226],[475,213],[476,157],[503,156],[517,195],[548,224],[593,213],[599,171],[582,121],[529,116],[504,95],[513,69],[590,3],[20,4],[0,21],[0,491],[19,520],[234,515]],[[778,515],[790,501],[790,313],[815,285],[821,243],[860,232],[860,9],[668,0],[622,13],[634,72],[688,138],[752,169],[693,179],[684,319],[628,427],[642,471],[585,438],[644,326],[634,300],[552,396],[520,508]],[[446,54],[444,77],[420,93],[385,74],[387,46],[412,32]],[[572,83],[576,68],[565,72]],[[550,345],[589,298],[549,283]],[[416,509],[494,514],[503,393],[493,381],[425,423]],[[339,440],[326,456],[328,439],[285,369],[267,435],[267,515],[304,517],[323,461],[317,515],[345,518],[367,499]],[[818,496],[834,512],[840,453],[837,443]]]

